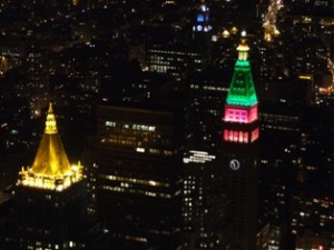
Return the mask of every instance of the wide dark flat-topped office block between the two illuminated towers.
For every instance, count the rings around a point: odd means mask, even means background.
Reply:
[[[97,112],[97,212],[112,249],[179,248],[185,106],[109,101]]]

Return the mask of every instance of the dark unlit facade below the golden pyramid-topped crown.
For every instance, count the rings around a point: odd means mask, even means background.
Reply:
[[[18,187],[13,249],[85,249],[84,182],[58,192]]]

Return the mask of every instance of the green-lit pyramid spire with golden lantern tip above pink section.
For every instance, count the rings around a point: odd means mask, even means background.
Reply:
[[[238,60],[234,67],[234,74],[227,93],[226,103],[234,106],[254,106],[257,103],[256,91],[248,61],[249,47],[245,40],[238,46]]]

